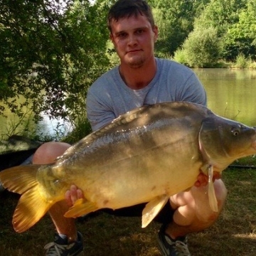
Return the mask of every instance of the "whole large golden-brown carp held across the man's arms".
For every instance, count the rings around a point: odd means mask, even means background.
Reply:
[[[188,102],[161,103],[123,114],[71,146],[55,164],[16,166],[0,172],[9,191],[22,194],[13,218],[21,233],[75,184],[85,199],[65,213],[78,217],[101,208],[147,203],[145,227],[169,196],[191,188],[235,159],[256,153],[255,128]],[[217,207],[209,179],[210,201]]]

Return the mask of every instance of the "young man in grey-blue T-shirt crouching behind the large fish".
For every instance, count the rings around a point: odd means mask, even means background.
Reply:
[[[117,1],[110,9],[108,26],[120,65],[98,78],[88,91],[87,117],[93,130],[142,105],[172,101],[206,105],[203,86],[190,69],[154,57],[158,28],[146,1]],[[33,162],[49,163],[68,146],[43,144],[36,151]],[[207,178],[199,174],[195,186],[190,191],[171,196],[169,203],[156,217],[156,221],[163,223],[158,234],[162,255],[190,255],[186,235],[210,227],[218,218],[226,197],[225,186],[220,179],[214,182],[218,200],[218,213],[215,213],[202,199],[205,198],[203,186],[206,186]],[[75,228],[75,220],[63,217],[78,198],[82,198],[82,191],[71,186],[66,193],[66,201],[56,203],[49,210],[57,233],[55,242],[46,245],[46,255],[78,255],[82,251],[82,235]],[[142,215],[143,207],[144,204],[109,212]]]

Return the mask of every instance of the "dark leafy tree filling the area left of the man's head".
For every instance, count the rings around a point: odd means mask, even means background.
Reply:
[[[42,111],[75,119],[85,112],[87,87],[107,66],[105,4],[65,3],[1,1],[0,100],[17,114],[31,104],[37,119]]]

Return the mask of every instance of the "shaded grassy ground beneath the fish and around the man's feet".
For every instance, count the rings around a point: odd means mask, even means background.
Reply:
[[[189,236],[191,255],[256,255],[256,170],[227,169],[223,180],[228,200],[219,220],[208,230]],[[0,255],[44,255],[43,246],[53,240],[53,224],[46,215],[25,233],[15,233],[11,216],[18,195],[0,195]],[[158,223],[140,228],[140,218],[122,218],[99,213],[78,220],[87,256],[160,255],[156,245]],[[1,254],[1,252],[3,254]]]

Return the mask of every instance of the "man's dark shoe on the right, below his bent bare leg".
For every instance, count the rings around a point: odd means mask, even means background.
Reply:
[[[159,250],[161,255],[163,256],[191,256],[190,252],[188,251],[187,240],[186,236],[177,238],[173,240],[166,235],[164,232],[166,230],[166,226],[162,225],[161,229],[159,230],[157,242],[159,245]]]

